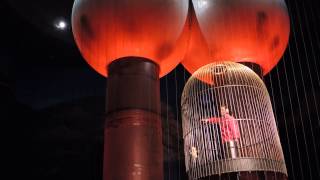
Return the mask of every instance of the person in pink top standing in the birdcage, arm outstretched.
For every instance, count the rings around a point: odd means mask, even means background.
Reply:
[[[208,119],[201,119],[206,123],[219,123],[222,143],[227,146],[228,154],[231,158],[237,157],[236,146],[240,139],[240,129],[238,121],[229,114],[229,109],[225,106],[220,108],[221,117],[211,117]]]

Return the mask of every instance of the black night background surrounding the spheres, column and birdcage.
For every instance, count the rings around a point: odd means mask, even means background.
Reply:
[[[320,6],[287,1],[289,46],[264,77],[274,105],[289,179],[320,179]],[[72,37],[73,0],[0,2],[0,119],[10,177],[102,179],[106,79]],[[68,27],[54,27],[60,19]],[[161,79],[165,179],[185,179],[179,65]]]

